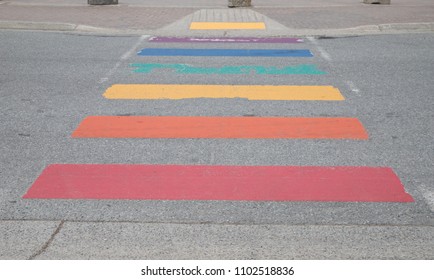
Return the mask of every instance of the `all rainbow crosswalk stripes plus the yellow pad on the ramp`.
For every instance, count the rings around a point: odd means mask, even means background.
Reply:
[[[265,29],[264,23],[193,22],[197,29]],[[149,43],[297,44],[298,38],[173,38],[153,37]],[[285,45],[286,46],[286,45]],[[309,49],[144,48],[138,57],[229,56],[308,59]],[[131,65],[153,69],[183,69],[179,64]],[[303,67],[306,65],[303,64]],[[189,65],[189,67],[192,67]],[[213,66],[211,66],[212,68]],[[236,67],[228,65],[226,67]],[[261,67],[250,65],[248,67]],[[288,66],[297,69],[298,66]],[[292,68],[291,68],[292,67]],[[209,68],[209,69],[211,69]],[[298,74],[324,74],[313,71]],[[191,68],[190,68],[191,69]],[[213,68],[216,69],[216,68]],[[232,68],[233,74],[246,74]],[[206,70],[206,69],[205,69]],[[276,69],[274,69],[276,70]],[[281,70],[281,69],[280,69]],[[196,69],[196,71],[199,71]],[[220,71],[220,72],[219,72]],[[258,70],[259,71],[259,70]],[[194,72],[194,71],[193,71]],[[221,70],[213,70],[219,75]],[[289,71],[281,74],[297,74]],[[177,72],[183,73],[183,72]],[[189,73],[184,72],[184,74]],[[228,72],[230,73],[230,72]],[[344,102],[339,89],[323,85],[113,84],[106,99],[232,99]],[[326,139],[366,141],[368,132],[355,117],[233,117],[233,116],[88,116],[73,138],[194,138],[194,139]],[[412,202],[399,178],[388,167],[360,166],[214,166],[53,164],[47,166],[24,195],[26,199],[128,200],[250,200]]]

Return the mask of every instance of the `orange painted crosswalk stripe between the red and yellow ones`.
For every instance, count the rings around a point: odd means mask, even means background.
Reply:
[[[355,118],[90,116],[74,138],[368,139]]]

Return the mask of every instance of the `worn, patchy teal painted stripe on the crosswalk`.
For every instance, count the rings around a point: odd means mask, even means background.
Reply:
[[[135,73],[151,73],[155,69],[172,69],[178,74],[266,74],[266,75],[321,75],[315,65],[301,64],[286,67],[265,67],[255,65],[196,67],[187,64],[134,63],[130,65]]]

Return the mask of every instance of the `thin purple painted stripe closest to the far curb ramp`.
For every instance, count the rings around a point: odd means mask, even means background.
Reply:
[[[299,38],[254,38],[254,37],[221,37],[221,38],[191,38],[191,37],[151,37],[154,43],[302,43]]]

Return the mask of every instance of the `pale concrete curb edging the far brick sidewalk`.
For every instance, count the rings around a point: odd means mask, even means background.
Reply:
[[[434,22],[425,23],[392,23],[379,25],[363,25],[352,28],[341,29],[287,29],[287,30],[218,30],[218,31],[190,31],[190,30],[141,30],[141,29],[116,29],[94,27],[89,25],[58,23],[58,22],[27,22],[27,21],[0,21],[0,30],[38,30],[79,33],[87,35],[106,36],[139,36],[139,35],[160,35],[160,36],[257,36],[257,37],[280,37],[280,36],[363,36],[382,34],[406,34],[406,33],[431,33],[434,32]]]

